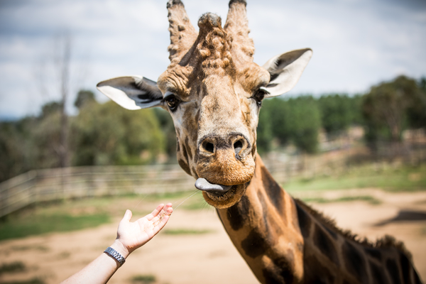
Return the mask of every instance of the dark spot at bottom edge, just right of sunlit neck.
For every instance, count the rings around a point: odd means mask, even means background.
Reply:
[[[331,284],[334,283],[334,275],[329,269],[322,265],[315,256],[305,258],[303,263],[305,275],[304,283],[306,284]]]

